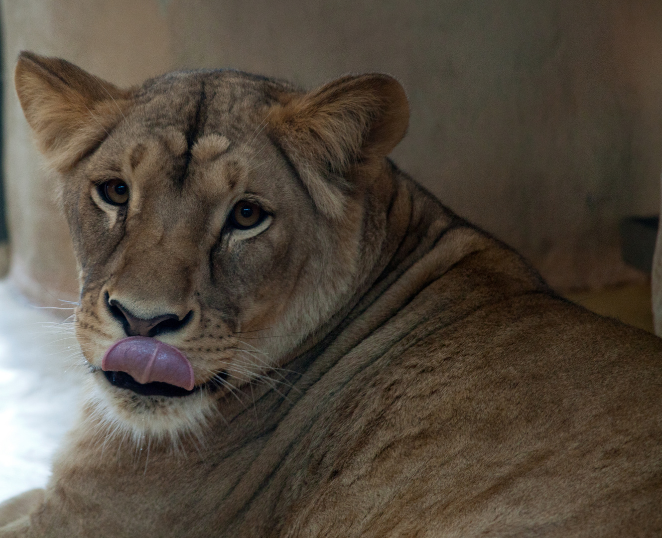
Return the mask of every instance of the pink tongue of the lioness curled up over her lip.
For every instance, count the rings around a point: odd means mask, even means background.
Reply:
[[[126,372],[139,383],[161,381],[186,390],[195,386],[193,367],[173,345],[146,336],[129,336],[108,348],[101,369]]]

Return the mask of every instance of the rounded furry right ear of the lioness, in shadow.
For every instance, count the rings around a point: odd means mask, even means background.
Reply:
[[[339,217],[352,168],[383,159],[402,140],[409,106],[402,85],[380,73],[347,75],[285,94],[267,122],[317,208]]]

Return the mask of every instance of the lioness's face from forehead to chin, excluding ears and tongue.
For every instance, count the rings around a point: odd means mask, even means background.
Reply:
[[[339,236],[315,218],[260,121],[242,132],[224,128],[241,117],[213,116],[189,153],[191,118],[164,122],[163,106],[130,111],[63,198],[83,283],[77,336],[101,401],[124,421],[179,427],[278,366],[330,316],[355,274],[359,237],[356,226]],[[104,193],[118,180],[121,203]],[[109,383],[101,359],[132,334],[181,350],[195,395],[142,396]]]

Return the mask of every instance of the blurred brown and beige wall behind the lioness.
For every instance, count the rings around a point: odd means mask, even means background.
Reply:
[[[643,281],[618,222],[658,214],[662,3],[653,0],[2,0],[11,278],[75,299],[52,178],[13,90],[19,50],[120,85],[235,67],[314,87],[385,71],[408,93],[401,167],[560,290]]]

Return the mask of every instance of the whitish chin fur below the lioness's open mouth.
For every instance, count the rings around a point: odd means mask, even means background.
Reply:
[[[111,385],[101,371],[91,377],[85,392],[99,433],[131,439],[140,447],[166,442],[177,449],[183,438],[201,441],[216,409],[205,390],[179,398],[141,396]]]

